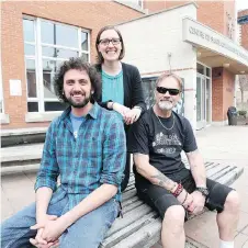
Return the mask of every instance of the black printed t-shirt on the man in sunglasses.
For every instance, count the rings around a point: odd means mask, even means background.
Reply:
[[[189,174],[181,161],[181,151],[190,153],[196,150],[198,146],[193,129],[185,117],[176,112],[168,119],[158,117],[150,108],[132,125],[127,149],[132,154],[149,155],[151,166],[167,177],[180,181]],[[136,172],[135,167],[134,172],[136,183],[149,183]]]

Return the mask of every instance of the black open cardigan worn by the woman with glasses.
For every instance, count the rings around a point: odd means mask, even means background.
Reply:
[[[99,72],[102,71],[101,65],[95,65]],[[143,93],[142,78],[137,67],[122,63],[123,70],[123,87],[124,87],[124,105],[132,109],[140,106],[142,113],[146,111],[146,103]],[[111,99],[110,99],[111,101]],[[98,99],[98,103],[108,109],[108,102],[102,102],[102,94]]]

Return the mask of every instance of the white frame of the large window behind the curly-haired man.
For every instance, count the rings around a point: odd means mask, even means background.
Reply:
[[[43,46],[46,46],[46,47],[52,47],[52,48],[74,50],[74,52],[78,52],[79,57],[81,57],[82,54],[86,54],[88,56],[88,61],[90,63],[90,30],[86,30],[86,29],[82,29],[82,27],[79,27],[79,26],[69,25],[69,24],[65,24],[65,23],[60,23],[60,22],[56,22],[56,21],[52,21],[52,20],[47,20],[47,19],[30,16],[30,15],[22,15],[22,20],[33,21],[33,26],[34,26],[34,42],[26,42],[25,37],[24,37],[24,32],[23,32],[23,44],[24,44],[24,46],[26,44],[26,45],[34,45],[34,47],[35,47],[35,54],[34,55],[24,54],[26,101],[27,101],[27,103],[29,102],[37,102],[38,113],[54,112],[54,111],[45,111],[45,102],[59,102],[59,100],[56,97],[55,98],[45,98],[45,95],[44,95],[45,91],[44,91],[44,77],[43,77],[43,59],[55,60],[55,61],[65,61],[65,60],[68,60],[68,58],[55,58],[55,57],[49,57],[49,56],[43,56],[42,48],[43,48]],[[61,45],[54,45],[54,44],[48,44],[48,43],[42,43],[42,37],[41,37],[42,21],[77,29],[77,36],[78,36],[77,45],[78,45],[78,48],[61,46]],[[24,25],[23,25],[23,31],[24,31]],[[82,32],[87,33],[88,50],[81,48],[81,33]],[[26,77],[26,71],[27,71],[26,60],[27,59],[33,59],[34,63],[35,63],[36,98],[29,97],[27,77]],[[29,112],[29,110],[27,110],[27,112]],[[59,112],[59,111],[57,111],[57,112]],[[29,112],[29,113],[34,113],[34,112]]]

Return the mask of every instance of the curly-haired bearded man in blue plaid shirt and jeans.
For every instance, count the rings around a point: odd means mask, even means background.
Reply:
[[[98,248],[103,240],[120,211],[126,142],[122,121],[94,102],[100,83],[80,58],[57,71],[56,94],[69,106],[47,131],[36,201],[2,224],[2,248]]]

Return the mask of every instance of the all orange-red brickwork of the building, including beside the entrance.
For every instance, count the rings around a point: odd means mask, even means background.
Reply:
[[[144,9],[149,13],[172,8],[189,1],[150,1],[144,0]],[[235,0],[230,1],[196,1],[198,21],[213,30],[228,35],[232,22],[235,20]],[[211,11],[210,11],[211,10]],[[248,12],[248,10],[247,10]],[[247,12],[244,12],[246,14]],[[240,13],[240,12],[239,12]],[[1,4],[1,63],[3,81],[4,112],[10,116],[10,123],[2,128],[20,128],[44,126],[48,123],[26,123],[27,113],[23,14],[71,24],[90,31],[90,55],[94,63],[94,41],[98,31],[106,24],[128,21],[144,13],[115,1],[18,1]],[[243,45],[248,48],[248,25],[244,25]],[[221,76],[216,76],[219,72]],[[215,76],[214,76],[215,75]],[[22,95],[10,95],[9,80],[20,79]],[[212,79],[212,121],[226,120],[226,111],[233,105],[235,76],[224,68],[213,68]],[[233,87],[233,88],[232,88]]]

